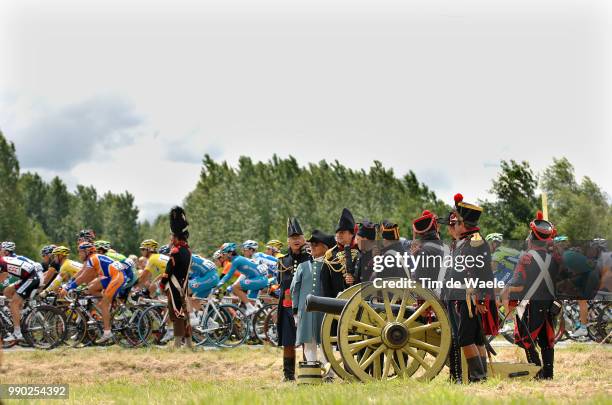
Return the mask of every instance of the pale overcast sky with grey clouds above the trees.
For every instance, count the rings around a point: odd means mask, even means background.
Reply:
[[[502,159],[612,192],[609,1],[2,1],[0,130],[22,171],[130,191],[141,219],[208,153],[373,160],[490,198]]]

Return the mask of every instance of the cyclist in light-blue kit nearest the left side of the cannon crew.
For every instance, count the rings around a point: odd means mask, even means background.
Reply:
[[[268,279],[265,275],[261,274],[257,264],[236,253],[235,243],[224,243],[221,253],[231,262],[231,267],[227,274],[217,283],[217,287],[229,281],[236,271],[240,271],[244,277],[240,277],[232,285],[232,293],[240,298],[240,301],[246,306],[247,316],[254,314],[257,308],[249,302],[245,291],[259,291],[265,288],[268,285]]]

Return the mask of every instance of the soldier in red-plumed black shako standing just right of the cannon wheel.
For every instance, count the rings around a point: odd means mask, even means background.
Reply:
[[[469,382],[478,382],[487,378],[485,335],[497,334],[498,319],[493,288],[470,283],[493,281],[491,252],[478,228],[482,208],[464,202],[463,196],[456,194],[454,212],[458,240],[449,274],[451,281],[460,285],[448,291],[452,310],[449,315],[455,317],[456,344],[467,361]]]

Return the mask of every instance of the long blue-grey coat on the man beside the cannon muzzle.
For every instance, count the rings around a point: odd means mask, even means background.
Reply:
[[[308,294],[322,295],[321,267],[322,261],[305,261],[300,263],[291,282],[291,300],[294,312],[297,309],[299,321],[297,325],[296,345],[316,340],[321,343],[321,312],[306,312],[306,297]]]

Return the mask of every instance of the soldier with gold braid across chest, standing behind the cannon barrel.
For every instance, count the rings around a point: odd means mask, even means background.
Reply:
[[[323,258],[321,268],[323,296],[336,298],[338,293],[354,284],[353,274],[358,256],[359,249],[355,243],[355,220],[353,214],[344,208],[336,227],[336,246],[325,252]]]

